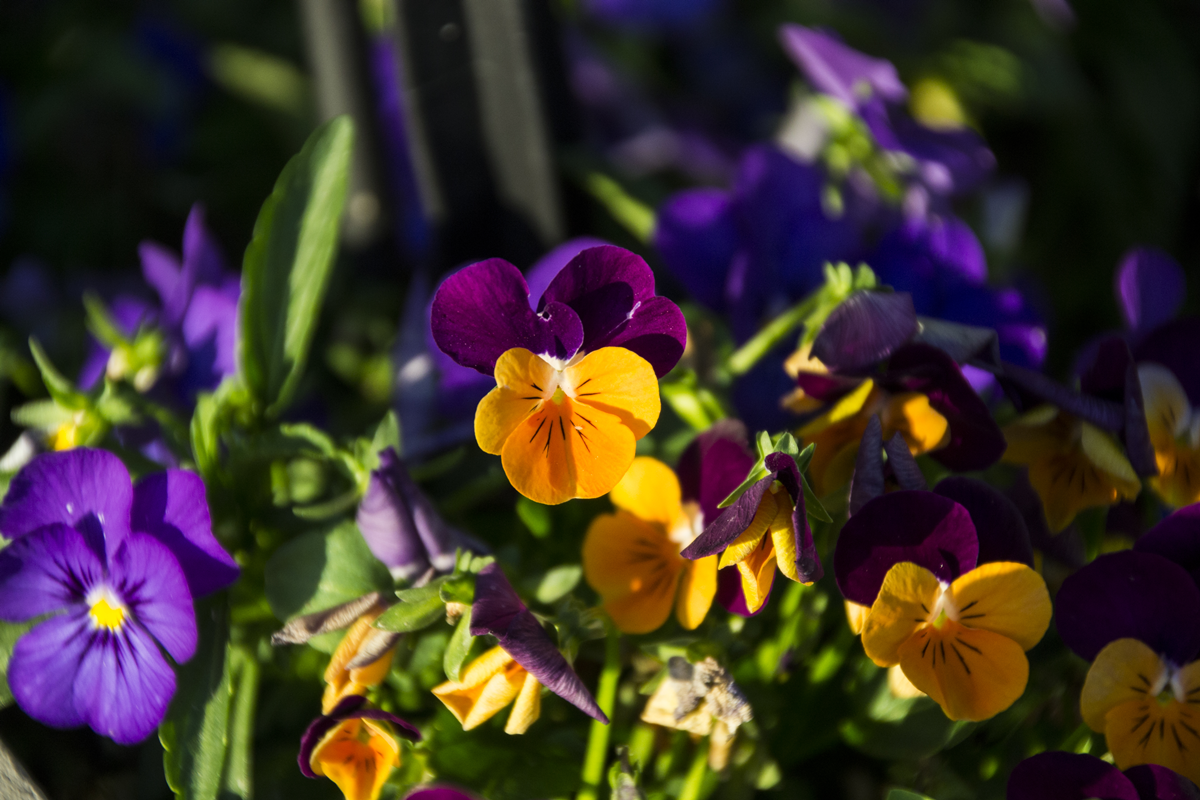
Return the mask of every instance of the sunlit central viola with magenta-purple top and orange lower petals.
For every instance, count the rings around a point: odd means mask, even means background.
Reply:
[[[571,259],[538,311],[528,297],[508,261],[473,264],[433,297],[433,338],[496,378],[475,410],[475,438],[520,493],[544,504],[600,497],[658,422],[658,378],[688,338],[683,313],[654,294],[646,261],[612,246]]]

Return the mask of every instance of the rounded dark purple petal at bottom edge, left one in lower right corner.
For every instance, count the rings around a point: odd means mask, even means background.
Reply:
[[[1112,764],[1096,756],[1039,753],[1013,768],[1007,800],[1140,800]]]

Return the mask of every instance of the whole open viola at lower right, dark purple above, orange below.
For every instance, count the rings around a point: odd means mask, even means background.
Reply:
[[[870,608],[866,655],[899,664],[952,720],[988,720],[1025,692],[1025,651],[1042,639],[1051,608],[1024,530],[998,493],[947,479],[935,492],[875,498],[838,539],[838,587]]]

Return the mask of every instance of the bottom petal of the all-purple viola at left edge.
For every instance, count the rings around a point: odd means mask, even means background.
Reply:
[[[119,745],[133,745],[166,716],[175,673],[150,634],[127,621],[119,632],[91,634],[71,691],[92,730]]]

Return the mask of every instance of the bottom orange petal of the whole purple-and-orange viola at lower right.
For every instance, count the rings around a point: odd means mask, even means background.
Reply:
[[[900,645],[899,656],[912,685],[934,698],[952,720],[996,716],[1020,698],[1030,679],[1030,662],[1020,644],[953,620],[940,628],[920,628]]]

